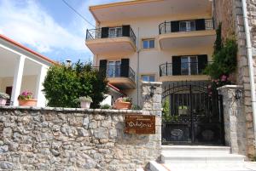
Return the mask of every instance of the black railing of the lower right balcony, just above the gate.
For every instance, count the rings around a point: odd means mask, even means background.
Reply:
[[[174,65],[172,63],[161,64],[160,77],[164,76],[179,76],[179,75],[202,75],[206,66],[211,63],[207,62],[199,64],[198,62],[185,62],[180,65]]]

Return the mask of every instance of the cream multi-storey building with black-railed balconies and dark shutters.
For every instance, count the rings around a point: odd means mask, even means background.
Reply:
[[[185,5],[184,5],[185,4]],[[209,0],[138,0],[90,7],[86,42],[108,82],[141,103],[141,81],[207,81],[215,31]]]

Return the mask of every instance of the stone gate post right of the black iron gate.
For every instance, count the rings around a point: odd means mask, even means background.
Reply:
[[[242,86],[225,85],[218,88],[218,93],[223,95],[225,145],[231,147],[232,153],[246,155],[246,118],[243,98],[236,98],[237,90],[242,92]]]

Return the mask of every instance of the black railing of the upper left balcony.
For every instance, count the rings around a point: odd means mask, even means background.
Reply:
[[[105,27],[106,28],[106,27]],[[136,36],[134,34],[134,31],[129,28],[128,33],[126,31],[123,31],[123,27],[111,27],[110,29],[114,28],[119,28],[117,31],[109,31],[109,28],[102,29],[90,29],[86,30],[86,40],[91,40],[91,39],[98,39],[98,38],[113,38],[113,37],[130,37],[131,41],[136,44]]]

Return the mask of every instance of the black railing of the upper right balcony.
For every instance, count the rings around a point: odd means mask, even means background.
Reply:
[[[214,25],[212,19],[165,21],[159,25],[160,34],[213,29]]]

